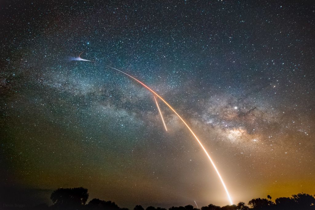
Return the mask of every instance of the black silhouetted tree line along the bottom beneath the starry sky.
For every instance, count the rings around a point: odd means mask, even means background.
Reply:
[[[51,206],[47,204],[40,204],[32,208],[34,210],[129,210],[128,208],[120,208],[115,202],[103,201],[94,198],[88,201],[88,189],[83,187],[78,188],[59,188],[51,193],[50,199],[54,203]],[[270,195],[266,198],[254,198],[248,202],[247,206],[244,202],[239,202],[237,205],[227,205],[224,207],[209,204],[201,207],[201,209],[194,208],[192,205],[185,207],[170,207],[169,210],[315,210],[315,195],[299,193],[291,197],[280,197],[272,201]],[[161,207],[149,206],[144,209],[137,205],[133,210],[167,210]]]

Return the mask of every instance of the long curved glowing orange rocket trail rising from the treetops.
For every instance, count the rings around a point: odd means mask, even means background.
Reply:
[[[208,154],[207,150],[206,150],[206,149],[204,148],[204,146],[201,144],[200,140],[197,138],[197,136],[195,135],[195,133],[194,133],[194,132],[192,131],[192,129],[187,125],[187,123],[183,120],[183,118],[181,118],[180,115],[177,114],[177,112],[173,109],[173,107],[171,107],[171,105],[169,105],[161,96],[159,96],[156,92],[154,92],[151,88],[149,88],[148,86],[146,86],[144,83],[142,83],[141,81],[139,81],[139,80],[136,79],[135,77],[132,77],[132,76],[130,76],[129,74],[123,72],[123,71],[120,71],[120,70],[118,70],[118,69],[116,69],[116,68],[114,68],[114,67],[111,67],[111,66],[109,66],[109,65],[107,65],[107,66],[110,67],[110,68],[112,68],[112,69],[115,69],[115,70],[117,70],[117,71],[119,71],[119,72],[121,72],[121,73],[127,75],[128,77],[134,79],[135,81],[139,82],[143,87],[145,87],[145,88],[148,89],[150,92],[152,92],[155,96],[157,96],[158,98],[160,98],[160,99],[164,102],[164,104],[166,104],[166,105],[180,118],[180,120],[186,125],[186,127],[188,128],[188,130],[192,133],[192,135],[193,135],[193,136],[195,137],[195,139],[198,141],[198,143],[199,143],[199,145],[201,146],[201,148],[203,149],[204,153],[206,153],[206,155],[207,155],[207,157],[209,158],[209,160],[210,160],[212,166],[213,166],[214,169],[215,169],[215,172],[218,174],[218,176],[219,176],[219,178],[220,178],[220,181],[221,181],[221,183],[222,183],[222,185],[223,185],[223,188],[224,188],[224,190],[225,190],[225,192],[226,192],[226,195],[227,195],[227,197],[228,197],[228,199],[229,199],[229,201],[230,201],[230,204],[233,205],[232,198],[231,198],[231,196],[230,196],[230,194],[229,194],[229,191],[228,191],[227,188],[226,188],[226,185],[225,185],[225,183],[224,183],[224,181],[223,181],[223,179],[222,179],[222,177],[221,177],[221,175],[220,175],[220,173],[219,173],[217,167],[215,166],[215,163],[213,162],[213,160],[211,159],[211,157],[210,157],[210,155]]]

